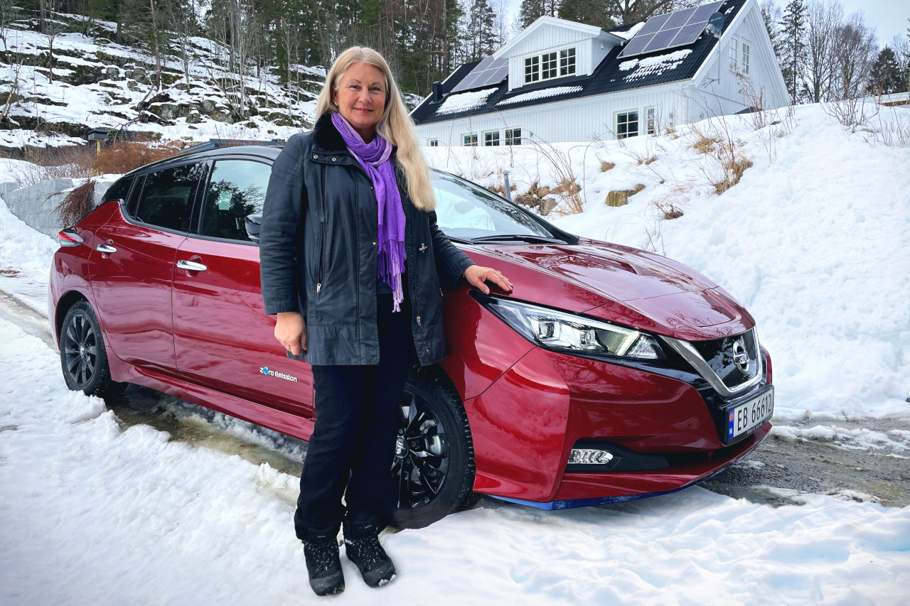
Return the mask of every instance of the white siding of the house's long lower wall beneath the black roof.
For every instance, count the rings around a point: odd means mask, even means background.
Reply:
[[[500,130],[500,140],[504,142],[504,131],[511,127],[520,127],[523,137],[531,136],[549,143],[591,141],[598,137],[610,139],[613,138],[616,126],[616,113],[621,111],[637,110],[639,132],[644,134],[647,107],[654,107],[659,127],[665,127],[671,122],[674,124],[685,122],[684,116],[688,114],[687,99],[682,94],[682,86],[676,84],[419,125],[417,132],[421,145],[428,145],[429,139],[439,139],[440,146],[460,146],[461,136],[464,134],[480,134],[495,129]],[[567,116],[571,116],[571,119],[567,119]]]

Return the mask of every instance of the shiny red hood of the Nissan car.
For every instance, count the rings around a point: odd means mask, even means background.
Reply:
[[[479,248],[496,259],[475,260],[501,269],[515,298],[687,340],[726,337],[754,325],[713,281],[647,251],[585,238],[573,245]]]

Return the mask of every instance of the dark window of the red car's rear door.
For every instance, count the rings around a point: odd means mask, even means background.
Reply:
[[[133,217],[149,225],[185,230],[193,193],[204,169],[204,164],[197,163],[149,173]]]

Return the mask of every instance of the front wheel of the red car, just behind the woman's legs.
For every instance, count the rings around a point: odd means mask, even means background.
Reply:
[[[474,447],[458,391],[439,369],[412,368],[401,400],[391,525],[423,528],[473,502]]]

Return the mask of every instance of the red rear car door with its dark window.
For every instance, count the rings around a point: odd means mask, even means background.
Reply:
[[[126,207],[96,231],[96,311],[111,351],[129,364],[177,372],[171,279],[205,167],[187,162],[137,177]]]

